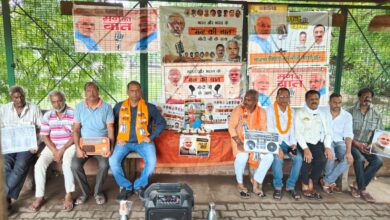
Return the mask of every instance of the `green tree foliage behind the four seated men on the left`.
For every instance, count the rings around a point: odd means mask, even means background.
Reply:
[[[75,53],[72,16],[60,15],[58,1],[23,1],[11,10],[15,78],[29,100],[44,100],[53,89],[62,89],[70,102],[80,100],[92,79],[103,99],[118,90],[120,55]]]

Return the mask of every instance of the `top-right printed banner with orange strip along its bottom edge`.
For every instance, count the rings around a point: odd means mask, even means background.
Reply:
[[[329,62],[331,15],[327,12],[249,14],[249,65],[325,65]]]

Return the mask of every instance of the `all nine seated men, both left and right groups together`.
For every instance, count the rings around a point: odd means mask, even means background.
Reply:
[[[109,167],[121,188],[118,200],[127,200],[134,192],[143,193],[156,165],[153,140],[163,131],[166,121],[156,106],[142,98],[138,82],[128,83],[127,94],[129,98],[112,109],[99,97],[99,87],[94,82],[88,82],[84,86],[84,101],[72,109],[66,104],[62,91],[52,91],[49,98],[53,109],[42,117],[36,105],[26,102],[23,88],[10,88],[12,101],[0,107],[1,127],[35,125],[37,134],[40,134],[45,143],[35,164],[36,198],[29,206],[31,211],[38,211],[45,203],[46,170],[53,161],[62,164],[66,191],[63,203],[65,211],[71,211],[74,204],[85,203],[91,196],[97,204],[104,204],[106,197],[102,186]],[[264,196],[261,184],[272,165],[275,188],[273,197],[277,200],[282,198],[283,157],[286,154],[292,160],[286,190],[294,199],[301,197],[300,192],[295,189],[299,174],[302,177],[303,196],[321,199],[321,195],[314,190],[314,185],[321,182],[326,193],[339,192],[336,179],[354,163],[356,181],[350,186],[352,195],[375,202],[366,187],[383,162],[380,157],[367,152],[367,144],[373,130],[383,129],[383,125],[380,115],[372,107],[373,96],[372,90],[362,89],[358,93],[359,101],[356,105],[345,111],[341,108],[341,96],[332,94],[330,108],[320,111],[320,94],[310,90],[305,95],[304,108],[295,114],[289,104],[288,89],[280,88],[276,102],[266,111],[257,104],[258,92],[248,90],[243,103],[233,110],[228,123],[240,196],[250,197],[243,184],[244,169],[251,156],[243,149],[243,124],[246,124],[251,130],[277,132],[280,135],[279,153],[275,156],[263,154],[255,161],[251,180],[253,193],[256,195]],[[110,147],[102,155],[87,155],[80,146],[82,137],[108,137]],[[140,177],[134,183],[126,179],[121,165],[130,152],[137,152],[145,162]],[[37,150],[30,150],[4,155],[9,209],[19,196],[36,153]],[[83,168],[91,157],[96,158],[99,164],[94,190],[90,189]],[[336,159],[339,160],[337,165]],[[369,162],[366,166],[365,160]],[[75,191],[74,179],[81,189],[81,195],[75,200],[72,195]]]

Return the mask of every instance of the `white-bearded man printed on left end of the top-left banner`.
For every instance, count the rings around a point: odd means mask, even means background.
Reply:
[[[77,31],[74,32],[76,49],[78,51],[100,51],[98,43],[92,38],[95,31],[95,22],[92,17],[82,16],[76,22]]]

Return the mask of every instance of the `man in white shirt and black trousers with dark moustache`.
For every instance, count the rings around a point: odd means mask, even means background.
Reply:
[[[314,183],[318,183],[326,159],[332,159],[331,131],[318,110],[320,93],[307,91],[305,101],[305,106],[295,117],[296,138],[304,159],[301,169],[302,193],[307,199],[320,200],[322,196],[314,190]]]

